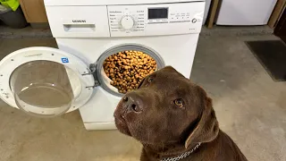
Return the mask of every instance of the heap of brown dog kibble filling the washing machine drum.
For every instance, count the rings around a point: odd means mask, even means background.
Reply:
[[[137,89],[145,76],[156,71],[156,61],[139,51],[123,51],[105,59],[104,70],[120,93]]]

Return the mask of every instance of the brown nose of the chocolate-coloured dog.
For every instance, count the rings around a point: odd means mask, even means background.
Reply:
[[[127,112],[141,113],[143,102],[135,93],[126,94],[123,97],[123,107]]]

